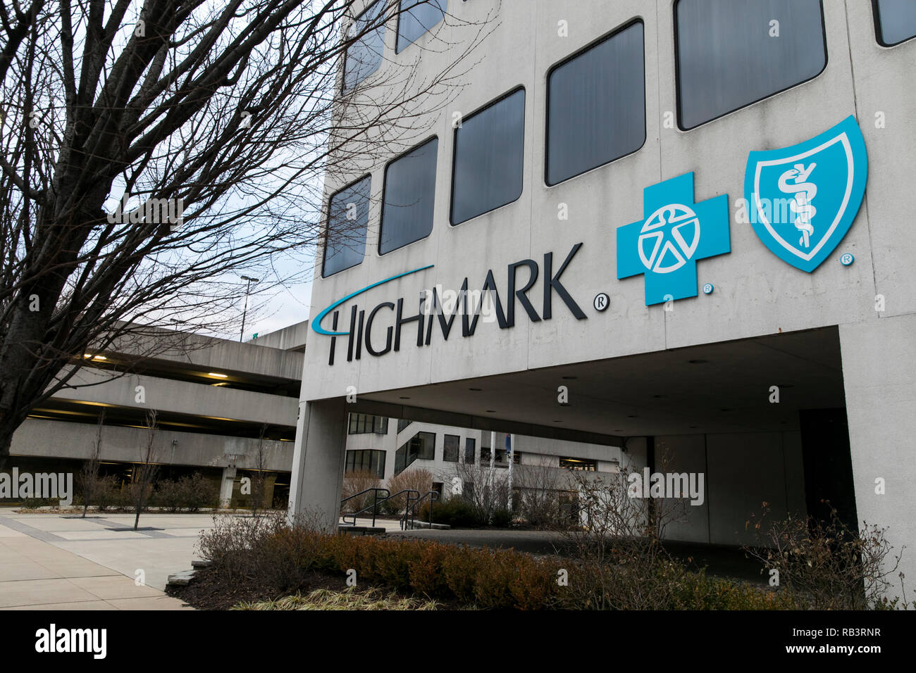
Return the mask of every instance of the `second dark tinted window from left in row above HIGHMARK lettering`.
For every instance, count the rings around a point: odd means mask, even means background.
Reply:
[[[433,138],[388,164],[378,238],[382,255],[430,235],[438,146]]]

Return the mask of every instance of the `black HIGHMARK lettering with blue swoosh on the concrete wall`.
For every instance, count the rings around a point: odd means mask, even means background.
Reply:
[[[567,309],[573,313],[577,320],[585,320],[583,310],[576,303],[573,296],[563,286],[561,276],[573,261],[573,257],[582,247],[581,243],[573,245],[573,249],[563,260],[559,268],[554,271],[553,253],[544,255],[543,264],[538,265],[533,259],[523,259],[507,266],[506,294],[500,297],[499,288],[493,270],[486,272],[483,288],[480,290],[468,289],[468,278],[464,277],[461,288],[457,291],[442,291],[441,286],[420,291],[417,312],[408,308],[405,310],[405,299],[397,301],[383,301],[372,309],[363,309],[355,301],[350,306],[350,317],[346,331],[338,331],[340,323],[340,310],[338,307],[356,299],[366,291],[386,285],[398,278],[412,276],[430,266],[407,271],[397,276],[392,276],[370,286],[357,290],[343,299],[338,299],[331,306],[322,310],[311,321],[311,329],[319,334],[331,337],[331,348],[328,364],[333,365],[336,357],[338,337],[347,337],[346,359],[347,362],[359,360],[363,351],[374,357],[379,357],[391,351],[399,351],[401,347],[402,330],[408,327],[411,336],[406,342],[415,342],[417,347],[428,346],[432,342],[433,328],[437,326],[442,333],[442,340],[448,341],[449,335],[455,326],[455,319],[461,315],[461,335],[469,337],[474,335],[479,320],[492,322],[496,320],[500,329],[507,329],[515,325],[516,306],[525,310],[531,322],[551,320],[553,317],[553,296],[562,299]],[[519,284],[518,270],[528,270],[528,277],[523,284]],[[543,291],[540,298],[529,296],[529,290],[534,286],[540,276],[541,269],[544,274]],[[505,298],[505,302],[503,301]],[[540,314],[538,307],[540,306]],[[330,316],[331,329],[322,327],[322,321]],[[384,321],[384,345],[377,321]],[[375,328],[375,329],[374,329]],[[416,331],[416,339],[412,333]]]

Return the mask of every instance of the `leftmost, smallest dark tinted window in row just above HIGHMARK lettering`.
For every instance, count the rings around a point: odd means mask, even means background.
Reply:
[[[324,247],[325,277],[363,261],[371,185],[372,179],[366,176],[331,197],[328,240]]]

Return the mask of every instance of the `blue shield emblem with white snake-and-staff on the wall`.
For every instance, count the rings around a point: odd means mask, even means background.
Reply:
[[[799,145],[751,152],[750,223],[770,252],[811,273],[852,226],[867,177],[865,138],[852,115]]]

